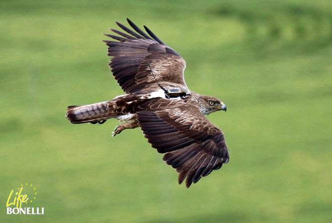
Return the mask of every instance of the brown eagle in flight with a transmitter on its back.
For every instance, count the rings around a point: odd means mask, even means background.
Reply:
[[[145,32],[127,19],[132,29],[104,34],[111,56],[110,68],[126,93],[110,101],[69,106],[66,118],[73,124],[99,123],[116,118],[121,123],[113,136],[124,129],[140,127],[163,161],[179,173],[186,187],[221,168],[229,160],[224,134],[205,116],[225,104],[212,96],[188,89],[184,80],[185,60],[147,27]],[[135,32],[136,31],[136,32]]]

